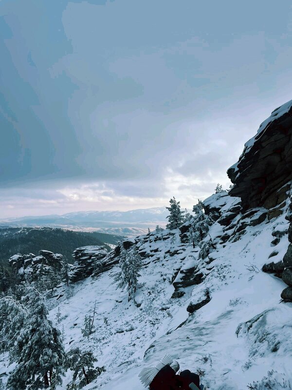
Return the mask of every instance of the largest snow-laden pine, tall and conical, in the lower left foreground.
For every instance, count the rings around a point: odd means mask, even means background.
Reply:
[[[28,315],[16,342],[17,366],[7,381],[11,390],[39,390],[62,383],[65,351],[60,331],[48,319],[48,310],[36,289],[26,288]]]

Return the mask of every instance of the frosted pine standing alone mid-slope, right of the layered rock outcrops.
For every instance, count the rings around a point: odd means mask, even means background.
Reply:
[[[120,243],[120,271],[114,275],[115,281],[119,282],[118,287],[128,290],[128,301],[134,297],[138,285],[139,270],[142,266],[141,257],[136,248],[131,253],[127,252],[123,243]]]

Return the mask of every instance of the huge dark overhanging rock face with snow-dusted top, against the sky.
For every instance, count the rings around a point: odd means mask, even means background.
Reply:
[[[243,210],[263,206],[274,218],[287,198],[292,179],[292,101],[274,110],[246,144],[237,164],[227,171],[234,183],[229,195],[239,196]],[[288,188],[289,187],[289,188]]]

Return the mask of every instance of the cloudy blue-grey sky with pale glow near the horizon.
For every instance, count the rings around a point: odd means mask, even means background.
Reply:
[[[191,208],[291,62],[289,0],[0,0],[0,218]]]

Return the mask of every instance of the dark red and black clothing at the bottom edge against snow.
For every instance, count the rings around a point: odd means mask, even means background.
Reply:
[[[150,390],[189,390],[189,384],[194,383],[200,388],[199,375],[191,372],[190,370],[184,370],[179,375],[175,374],[175,371],[170,366],[165,366],[161,369],[153,381],[150,383]]]

